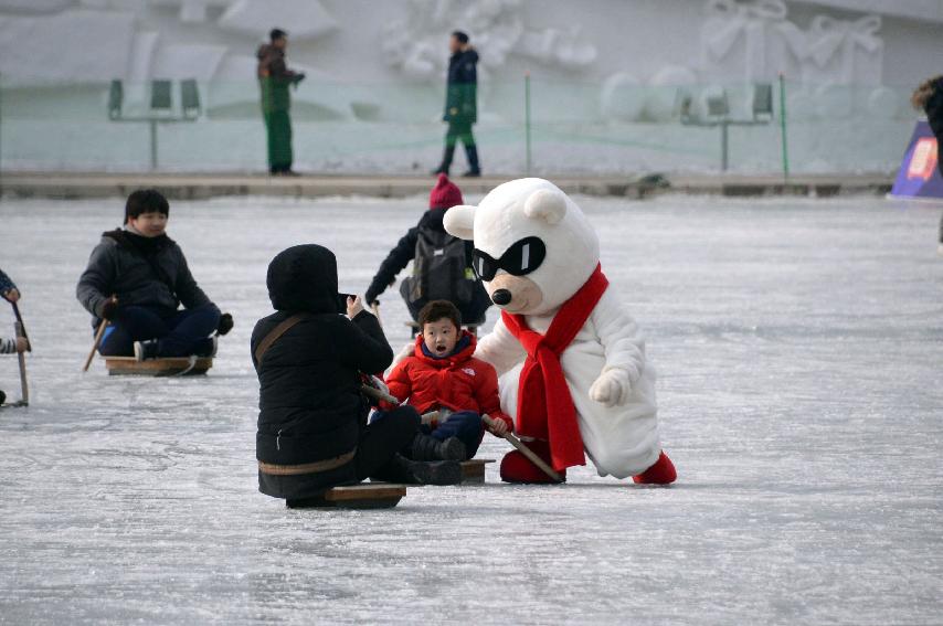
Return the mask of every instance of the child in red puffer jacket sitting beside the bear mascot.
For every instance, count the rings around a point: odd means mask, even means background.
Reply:
[[[495,420],[496,436],[513,428],[513,421],[501,411],[498,374],[495,368],[475,359],[475,336],[462,330],[462,316],[449,301],[433,300],[420,311],[422,335],[416,337],[412,357],[400,361],[386,384],[390,393],[420,413],[441,411],[437,423],[423,426],[434,442],[458,439],[464,444],[464,459],[478,452],[485,426],[481,415]],[[453,444],[454,445],[454,444]],[[413,450],[417,456],[438,458],[438,450]],[[414,460],[421,460],[414,458]]]

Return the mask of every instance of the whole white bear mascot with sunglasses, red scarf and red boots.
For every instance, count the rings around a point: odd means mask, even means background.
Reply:
[[[474,241],[474,270],[502,309],[475,356],[497,369],[501,405],[529,447],[564,478],[585,450],[600,476],[672,482],[645,341],[608,288],[580,208],[551,182],[526,178],[478,206],[449,209],[445,229]],[[501,478],[551,481],[517,450],[501,460]]]

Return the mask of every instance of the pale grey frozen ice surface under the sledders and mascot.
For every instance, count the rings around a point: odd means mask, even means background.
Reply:
[[[422,199],[174,202],[171,236],[236,318],[183,380],[78,373],[74,283],[121,201],[0,202],[35,344],[33,405],[0,411],[0,623],[939,622],[939,209],[580,202],[648,337],[678,484],[511,487],[491,465],[365,512],[256,492],[248,336],[276,252],[326,244],[362,293]],[[399,346],[404,307],[382,301]],[[13,399],[15,370],[0,359]]]

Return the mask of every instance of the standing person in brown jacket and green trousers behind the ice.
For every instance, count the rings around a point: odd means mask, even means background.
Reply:
[[[268,137],[268,171],[274,176],[296,176],[292,170],[292,95],[288,87],[305,79],[305,74],[288,70],[285,49],[288,33],[274,29],[271,43],[258,47],[258,85],[262,89],[262,115]]]

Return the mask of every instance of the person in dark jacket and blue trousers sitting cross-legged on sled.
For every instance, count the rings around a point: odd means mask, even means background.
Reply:
[[[108,231],[92,251],[76,296],[93,317],[110,326],[98,351],[138,361],[213,357],[216,338],[233,327],[197,285],[183,251],[167,236],[170,205],[158,191],[128,197],[124,227]],[[183,309],[180,309],[180,305]]]

